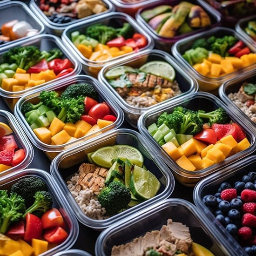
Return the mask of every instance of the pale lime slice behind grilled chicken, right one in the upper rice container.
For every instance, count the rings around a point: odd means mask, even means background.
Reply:
[[[174,81],[175,70],[165,61],[149,61],[139,68],[140,71],[160,76],[168,81]]]

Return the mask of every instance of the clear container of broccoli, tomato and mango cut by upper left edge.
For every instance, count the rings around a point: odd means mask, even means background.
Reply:
[[[25,94],[30,94],[34,92],[34,90],[38,88],[42,88],[53,82],[62,81],[67,78],[67,76],[73,76],[74,74],[79,74],[81,72],[81,64],[74,58],[72,54],[68,51],[68,49],[64,46],[61,40],[54,35],[50,34],[40,34],[33,38],[27,38],[25,40],[20,41],[19,43],[13,44],[11,47],[19,47],[19,46],[37,46],[40,50],[51,50],[52,48],[60,48],[63,52],[63,58],[68,58],[74,65],[74,70],[67,75],[63,75],[60,78],[54,79],[52,81],[48,81],[46,83],[40,84],[36,87],[28,88],[26,90],[11,92],[0,88],[0,95],[3,97],[4,101],[7,103],[8,107],[13,111],[16,102]],[[11,47],[0,50],[0,62],[1,55],[7,52]],[[41,89],[40,89],[41,90]]]

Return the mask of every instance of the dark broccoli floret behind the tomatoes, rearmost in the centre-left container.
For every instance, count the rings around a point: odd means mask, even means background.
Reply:
[[[88,83],[77,83],[69,85],[61,94],[61,98],[77,98],[79,96],[88,96],[94,100],[99,100],[99,94],[96,89]]]

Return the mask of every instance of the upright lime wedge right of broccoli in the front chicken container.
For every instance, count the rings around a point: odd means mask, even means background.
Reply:
[[[130,188],[139,201],[145,201],[156,195],[160,182],[153,173],[144,168],[134,166],[131,175]]]

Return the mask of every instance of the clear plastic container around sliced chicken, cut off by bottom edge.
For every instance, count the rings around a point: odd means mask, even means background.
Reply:
[[[214,255],[230,255],[227,243],[219,238],[201,210],[180,198],[158,202],[102,231],[94,247],[95,255],[108,256],[114,245],[128,243],[151,230],[160,230],[167,224],[168,219],[182,222],[189,227],[192,240],[209,249]]]

